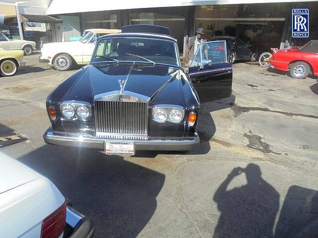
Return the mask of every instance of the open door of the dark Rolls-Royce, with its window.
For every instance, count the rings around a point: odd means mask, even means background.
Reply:
[[[201,103],[230,97],[233,70],[227,62],[226,41],[200,44],[188,73]]]

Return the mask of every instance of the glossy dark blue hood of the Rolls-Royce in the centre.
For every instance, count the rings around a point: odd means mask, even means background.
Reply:
[[[85,69],[66,93],[63,101],[76,99],[93,102],[96,95],[120,90],[119,81],[124,92],[130,91],[153,97],[169,89],[170,93],[165,94],[165,99],[172,100],[179,97],[179,81],[175,77],[178,67],[120,62],[90,64]]]

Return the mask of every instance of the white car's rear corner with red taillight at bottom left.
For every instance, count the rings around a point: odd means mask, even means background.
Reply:
[[[0,152],[1,238],[91,238],[91,221],[47,178]]]

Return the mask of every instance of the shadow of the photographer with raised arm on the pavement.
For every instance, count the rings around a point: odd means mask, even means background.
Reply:
[[[241,173],[245,173],[247,184],[227,190],[232,179]],[[221,212],[213,238],[274,238],[279,193],[262,179],[258,165],[235,168],[215,192],[213,200]]]

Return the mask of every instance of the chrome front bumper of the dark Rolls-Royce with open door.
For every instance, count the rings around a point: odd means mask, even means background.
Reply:
[[[90,135],[53,132],[48,129],[43,135],[47,144],[95,148],[104,150],[104,142],[135,143],[136,150],[187,151],[196,149],[200,143],[197,133],[193,137],[149,137],[146,140],[102,139]]]

